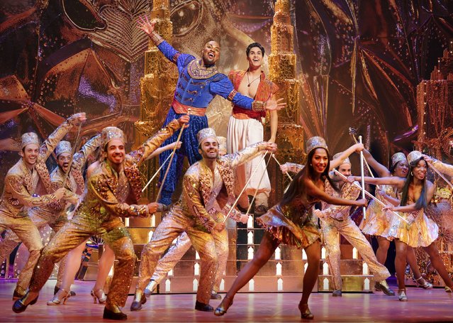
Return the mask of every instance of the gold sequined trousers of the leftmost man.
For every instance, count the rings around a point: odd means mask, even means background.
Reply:
[[[20,295],[24,295],[30,283],[30,273],[33,272],[33,268],[35,268],[40,252],[43,249],[43,243],[41,241],[38,228],[36,228],[35,224],[33,224],[33,221],[31,221],[28,216],[14,218],[9,217],[0,211],[0,231],[4,231],[6,229],[9,229],[11,234],[15,234],[17,239],[22,241],[22,243],[28,248],[28,252],[30,252],[28,261],[19,274],[16,286],[16,292]],[[5,240],[1,241],[0,245],[0,257],[2,261],[9,256],[11,251],[13,251],[18,244],[17,241],[12,241],[11,239],[6,240],[6,242]],[[12,249],[11,246],[13,246]]]

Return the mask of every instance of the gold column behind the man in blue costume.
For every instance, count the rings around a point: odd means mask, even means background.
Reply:
[[[168,43],[172,43],[173,24],[170,21],[169,0],[152,1],[150,18],[157,20],[157,33]],[[145,53],[145,76],[140,79],[140,121],[135,122],[138,130],[135,134],[135,145],[140,145],[164,124],[172,103],[177,76],[176,66],[169,62],[150,40],[149,49]],[[142,166],[143,178],[149,180],[158,168],[157,158],[148,161]],[[153,201],[155,195],[157,189],[153,183],[147,188],[145,197]]]

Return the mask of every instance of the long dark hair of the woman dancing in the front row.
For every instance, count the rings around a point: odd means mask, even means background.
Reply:
[[[313,169],[313,165],[311,165],[311,160],[313,159],[313,155],[315,155],[316,149],[317,148],[312,149],[310,153],[308,153],[305,167],[293,178],[293,181],[289,185],[288,190],[286,190],[283,197],[281,198],[281,206],[291,203],[293,199],[299,196],[302,196],[303,199],[306,199],[306,190],[305,186],[303,185],[302,177],[309,177],[311,180],[315,178],[315,170]],[[335,185],[335,183],[329,177],[330,154],[327,149],[323,149],[328,154],[328,165],[325,168],[324,172],[321,174],[321,180],[327,179],[330,185],[332,185],[333,189],[337,191],[337,185]]]

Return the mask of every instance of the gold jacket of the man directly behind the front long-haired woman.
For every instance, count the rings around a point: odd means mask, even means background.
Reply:
[[[357,199],[360,195],[360,190],[357,186],[352,183],[345,183],[342,186],[340,193],[336,192],[330,182],[325,180],[325,193],[333,197],[341,197],[342,199]],[[349,217],[349,211],[351,210],[350,205],[333,205],[326,202],[321,202],[323,218],[331,217],[337,220],[344,220]]]

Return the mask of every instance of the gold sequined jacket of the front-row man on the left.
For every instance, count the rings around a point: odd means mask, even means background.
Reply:
[[[136,200],[140,198],[141,180],[138,167],[179,128],[179,122],[173,120],[138,150],[125,155],[123,169],[119,173],[113,170],[108,160],[104,160],[87,180],[86,195],[74,219],[89,217],[99,223],[118,217],[147,217],[147,205],[128,204],[124,202],[124,197],[132,193]]]

